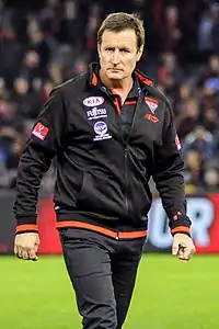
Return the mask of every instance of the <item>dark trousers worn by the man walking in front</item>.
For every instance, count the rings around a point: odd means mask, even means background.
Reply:
[[[60,231],[83,329],[120,329],[130,303],[145,238],[115,240],[85,229]]]

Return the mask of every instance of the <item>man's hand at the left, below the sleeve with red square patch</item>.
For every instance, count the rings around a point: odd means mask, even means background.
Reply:
[[[37,261],[38,246],[39,236],[37,232],[19,234],[14,239],[14,253],[20,259]]]

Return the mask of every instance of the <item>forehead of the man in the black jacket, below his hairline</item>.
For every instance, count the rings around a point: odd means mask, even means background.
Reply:
[[[102,46],[107,45],[137,47],[137,36],[135,30],[127,29],[120,32],[105,30],[102,35]]]

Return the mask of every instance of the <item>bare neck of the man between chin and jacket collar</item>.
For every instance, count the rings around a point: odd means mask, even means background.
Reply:
[[[134,83],[134,79],[132,77],[127,77],[123,80],[111,80],[108,79],[104,72],[102,71],[102,69],[100,69],[100,78],[101,81],[111,90],[118,90],[120,92],[129,92],[132,83]]]

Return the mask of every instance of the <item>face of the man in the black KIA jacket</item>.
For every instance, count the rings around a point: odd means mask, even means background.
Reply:
[[[99,57],[102,72],[110,80],[122,81],[130,77],[141,54],[142,49],[137,49],[135,30],[104,31]]]

